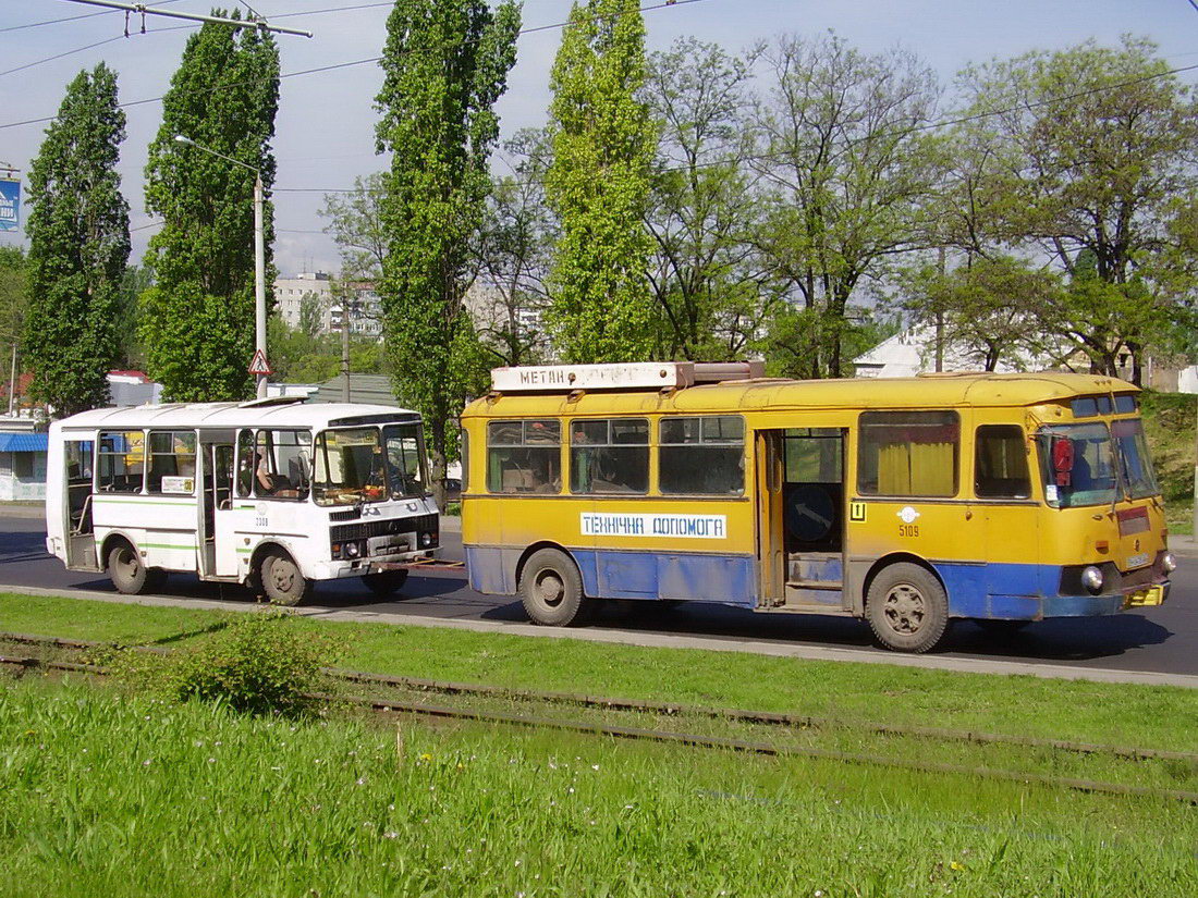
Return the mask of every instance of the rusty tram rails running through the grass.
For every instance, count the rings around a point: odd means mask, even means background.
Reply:
[[[110,649],[111,643],[89,642],[81,639],[62,639],[55,637],[29,636],[23,633],[0,633],[0,642],[37,645],[44,649],[66,649],[74,651],[93,651]],[[161,647],[135,647],[139,650],[156,653],[169,651]],[[84,673],[104,676],[108,671],[96,663],[63,659],[47,659],[32,655],[0,654],[0,666],[18,667],[25,671],[46,671],[60,673]],[[767,711],[746,711],[742,709],[702,708],[682,704],[653,703],[637,699],[609,698],[567,692],[544,692],[536,690],[513,688],[483,684],[461,684],[442,680],[429,680],[409,676],[391,676],[358,671],[327,669],[326,675],[334,682],[353,684],[356,686],[374,686],[391,690],[406,690],[418,693],[437,693],[442,696],[462,696],[468,698],[501,699],[516,703],[533,703],[545,706],[570,705],[603,711],[623,711],[646,716],[667,718],[708,718],[732,721],[736,723],[766,727],[780,730],[824,730],[847,729],[864,730],[882,738],[920,739],[936,741],[956,741],[985,746],[1010,746],[1016,748],[1035,748],[1049,752],[1066,752],[1083,756],[1108,756],[1126,762],[1166,762],[1181,764],[1187,769],[1198,769],[1198,753],[1163,751],[1130,746],[1073,742],[1067,740],[1041,739],[1035,736],[1003,735],[972,730],[956,730],[933,727],[910,727],[870,721],[817,717],[807,715],[788,715]],[[459,721],[483,723],[488,726],[521,727],[534,729],[553,729],[615,739],[672,744],[692,748],[712,751],[731,751],[768,757],[801,757],[813,760],[830,760],[855,765],[901,769],[912,772],[932,775],[956,775],[982,777],[987,779],[1029,783],[1045,787],[1064,788],[1083,793],[1120,795],[1133,797],[1166,799],[1198,805],[1198,791],[1157,788],[1130,783],[1106,782],[1085,777],[1057,776],[1035,771],[1010,770],[990,765],[957,764],[925,758],[904,758],[896,754],[878,752],[842,751],[815,745],[795,745],[779,741],[763,741],[733,736],[713,735],[697,732],[679,732],[677,729],[646,728],[624,726],[600,720],[563,720],[544,714],[510,712],[504,710],[483,710],[449,704],[435,704],[422,700],[406,700],[400,696],[363,696],[339,694],[329,692],[310,693],[314,700],[335,705],[343,704],[359,708],[387,720],[397,716],[423,717],[437,721]]]

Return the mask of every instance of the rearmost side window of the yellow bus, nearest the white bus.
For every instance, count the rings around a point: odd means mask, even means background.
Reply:
[[[489,421],[486,490],[495,493],[562,491],[559,421]]]

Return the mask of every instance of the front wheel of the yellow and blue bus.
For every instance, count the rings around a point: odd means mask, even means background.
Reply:
[[[865,614],[878,642],[895,651],[934,649],[949,626],[949,597],[926,568],[900,562],[870,583]]]

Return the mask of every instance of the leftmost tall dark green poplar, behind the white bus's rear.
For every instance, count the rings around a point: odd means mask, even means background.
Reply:
[[[116,359],[129,207],[116,172],[125,113],[103,63],[67,86],[29,177],[31,393],[59,414],[103,405]]]

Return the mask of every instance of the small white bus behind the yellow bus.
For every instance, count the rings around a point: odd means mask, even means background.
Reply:
[[[97,408],[50,425],[46,545],[122,593],[186,571],[278,605],[337,577],[387,595],[437,548],[426,472],[420,417],[387,406]]]

